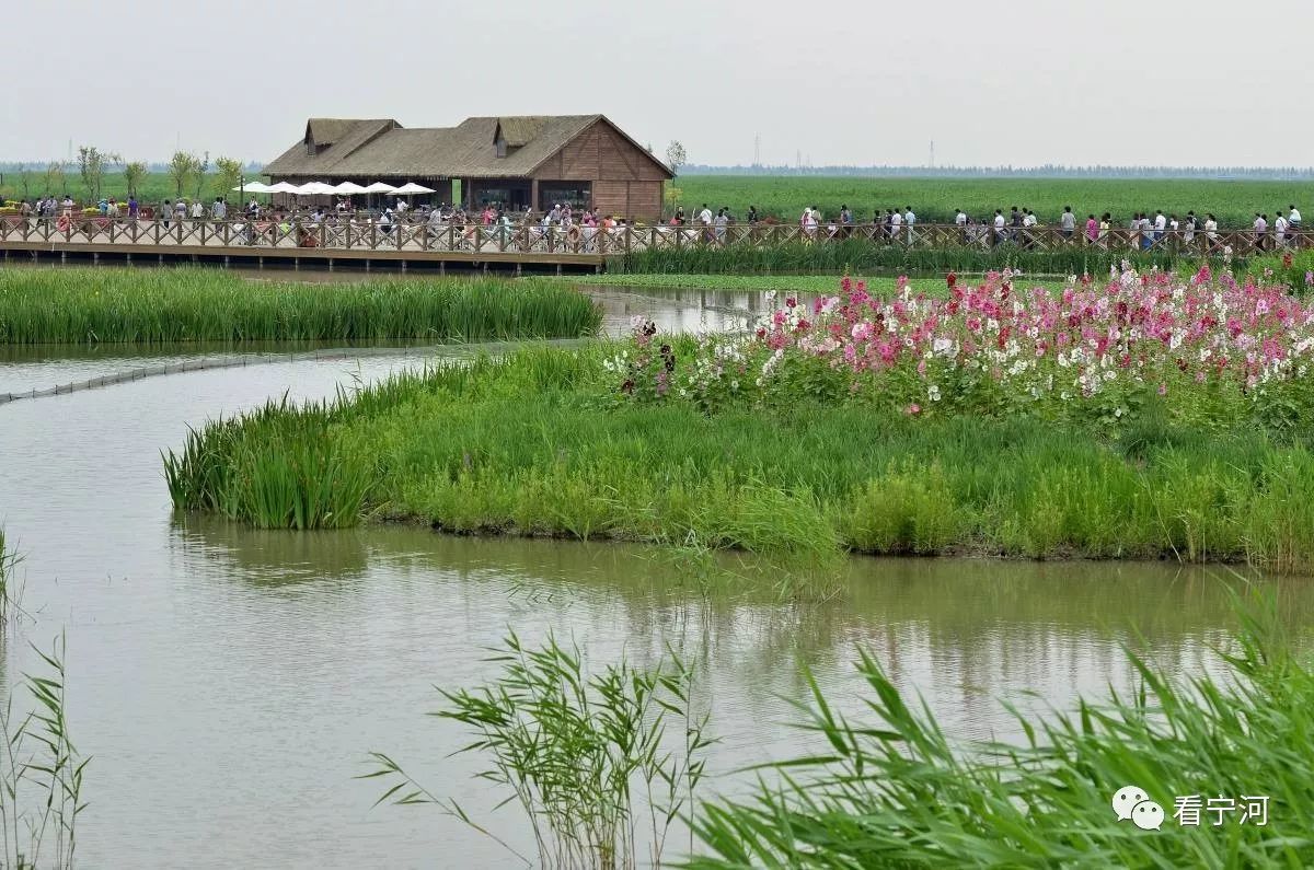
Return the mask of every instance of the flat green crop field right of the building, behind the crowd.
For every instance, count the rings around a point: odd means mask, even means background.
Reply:
[[[871,222],[878,209],[884,213],[909,205],[918,221],[945,223],[953,222],[954,209],[986,219],[995,209],[1008,214],[1014,205],[1035,212],[1041,223],[1058,223],[1064,205],[1071,205],[1083,222],[1087,214],[1109,212],[1117,226],[1135,212],[1152,216],[1156,209],[1183,217],[1193,209],[1201,222],[1212,212],[1222,227],[1231,229],[1248,227],[1255,212],[1267,213],[1272,222],[1279,209],[1285,213],[1292,204],[1314,216],[1311,181],[682,175],[668,185],[668,198],[669,188],[678,191],[686,214],[706,202],[714,212],[729,206],[741,218],[754,205],[761,214],[787,222],[798,221],[809,205],[824,216],[834,216],[848,205],[859,222]]]

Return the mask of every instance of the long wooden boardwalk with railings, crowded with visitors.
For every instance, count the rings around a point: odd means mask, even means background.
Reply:
[[[155,221],[78,216],[72,218],[0,217],[0,255],[35,260],[117,262],[221,262],[307,263],[317,267],[344,264],[407,265],[444,269],[482,267],[520,272],[523,268],[602,271],[610,258],[641,251],[685,248],[770,248],[788,244],[869,243],[907,250],[991,250],[1007,246],[1017,251],[1126,251],[1171,256],[1254,256],[1275,250],[1314,247],[1314,233],[1276,234],[1246,231],[1185,230],[1143,234],[1110,229],[1096,239],[1081,230],[1058,227],[916,225],[891,231],[884,226],[786,225],[619,226],[595,229],[474,226],[430,222],[374,223],[368,219]]]

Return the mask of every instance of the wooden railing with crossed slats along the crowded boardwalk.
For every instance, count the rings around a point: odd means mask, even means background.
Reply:
[[[1110,229],[1091,239],[1084,230],[1063,231],[1053,226],[1005,227],[917,223],[895,231],[875,225],[802,227],[788,225],[727,226],[618,226],[611,229],[572,226],[485,226],[399,221],[377,223],[360,219],[250,221],[235,217],[209,218],[110,218],[74,216],[70,218],[24,218],[0,216],[0,243],[109,244],[133,247],[223,247],[276,251],[323,248],[326,251],[409,251],[460,254],[553,254],[615,256],[641,251],[683,248],[770,248],[784,244],[837,244],[863,242],[908,250],[978,248],[1008,246],[1017,251],[1141,251],[1166,255],[1254,256],[1280,250],[1314,248],[1314,231],[1166,230],[1141,233]]]

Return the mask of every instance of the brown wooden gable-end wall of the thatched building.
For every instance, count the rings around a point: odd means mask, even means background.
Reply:
[[[595,212],[656,221],[666,173],[604,121],[598,121],[552,155],[540,181],[589,181]]]

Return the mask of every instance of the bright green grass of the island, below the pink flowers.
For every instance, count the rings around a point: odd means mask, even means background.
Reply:
[[[767,555],[1314,569],[1314,452],[1248,419],[1146,421],[1110,439],[1077,421],[911,419],[803,394],[707,415],[616,401],[602,369],[615,350],[531,348],[214,422],[167,456],[170,492],[180,509],[272,527],[369,514]]]

